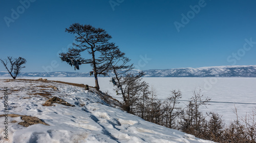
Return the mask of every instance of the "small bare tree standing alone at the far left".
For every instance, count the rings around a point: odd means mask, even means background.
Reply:
[[[25,66],[22,66],[22,65],[27,63],[26,59],[22,57],[19,57],[18,59],[16,58],[13,59],[11,56],[8,56],[7,59],[5,60],[0,59],[0,60],[13,79],[16,79],[17,75],[20,73],[20,70],[22,70],[22,68],[25,68]],[[10,63],[10,69],[8,69],[7,67],[8,63]],[[13,75],[12,75],[12,71],[14,72]]]

